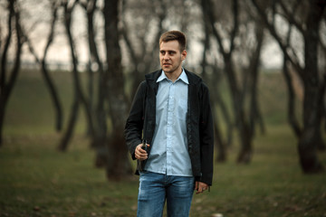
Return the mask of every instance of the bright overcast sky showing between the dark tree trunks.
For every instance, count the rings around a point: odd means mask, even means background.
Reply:
[[[33,10],[27,10],[22,14],[24,17],[28,17],[28,19],[24,19],[24,27],[27,32],[30,33],[31,41],[34,44],[35,52],[41,57],[43,53],[43,48],[45,46],[46,37],[49,33],[49,20],[50,20],[50,10],[49,5],[46,4],[38,4],[38,1],[29,0],[23,1],[22,7],[28,7]],[[43,2],[44,3],[44,2]],[[6,32],[6,19],[7,14],[4,11],[4,2],[1,3],[0,7],[0,24],[1,24],[1,35],[2,38],[5,38]],[[46,9],[47,8],[47,9]],[[35,16],[34,14],[39,14]],[[78,52],[78,58],[80,62],[86,63],[89,59],[89,52],[85,39],[85,16],[83,15],[81,8],[75,8],[74,11],[74,23],[72,24],[72,31],[74,34],[74,40],[78,46],[76,46]],[[42,17],[42,19],[40,19]],[[56,25],[56,33],[58,33],[53,41],[53,44],[48,52],[48,61],[49,62],[61,62],[61,63],[69,63],[70,62],[70,50],[66,40],[66,36],[64,34],[64,28],[61,24]],[[171,26],[171,28],[173,28]],[[33,30],[33,31],[31,31]],[[200,35],[200,34],[198,34]],[[188,35],[188,39],[190,44],[188,46],[188,56],[186,64],[195,66],[199,65],[199,62],[202,58],[203,47],[201,44],[201,38],[198,35]],[[101,46],[100,50],[101,50]],[[125,50],[124,50],[125,51]],[[102,49],[101,52],[104,52]],[[14,53],[14,49],[10,52],[11,55]],[[34,61],[34,57],[28,51],[28,47],[24,45],[24,53],[22,56],[23,61]],[[272,37],[269,40],[265,41],[264,50],[261,55],[262,65],[266,68],[279,68],[283,61],[283,54],[280,51],[278,45],[273,41]]]

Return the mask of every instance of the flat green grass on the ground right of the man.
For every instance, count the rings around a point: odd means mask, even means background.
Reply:
[[[326,156],[320,156],[325,165]],[[326,175],[303,175],[295,139],[287,127],[270,127],[254,142],[251,165],[234,159],[216,165],[207,201],[225,216],[326,216]],[[215,210],[214,210],[215,209]],[[205,215],[204,215],[205,216]],[[208,216],[208,213],[207,213]]]

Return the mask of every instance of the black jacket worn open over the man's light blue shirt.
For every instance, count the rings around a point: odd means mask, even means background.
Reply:
[[[186,71],[188,86],[187,142],[193,175],[196,181],[212,185],[214,133],[213,118],[206,84],[196,74]],[[142,137],[151,144],[156,123],[156,94],[160,71],[145,76],[139,84],[125,127],[129,152],[135,158],[135,149]],[[150,155],[149,146],[148,154]],[[144,168],[146,161],[138,164],[136,174]]]

